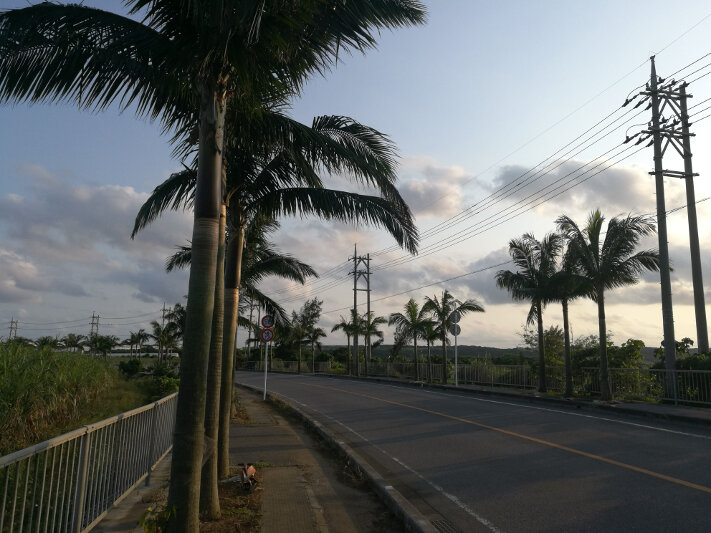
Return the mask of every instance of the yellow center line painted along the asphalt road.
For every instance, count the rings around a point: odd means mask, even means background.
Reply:
[[[706,486],[704,486],[704,485],[698,485],[698,484],[696,484],[696,483],[691,483],[690,481],[684,481],[683,479],[675,478],[675,477],[673,477],[673,476],[667,476],[666,474],[660,474],[659,472],[654,472],[653,470],[647,470],[646,468],[640,468],[640,467],[638,467],[638,466],[630,465],[630,464],[627,464],[627,463],[622,463],[622,462],[616,461],[616,460],[614,460],[614,459],[608,459],[607,457],[602,457],[602,456],[600,456],[600,455],[595,455],[594,453],[588,453],[588,452],[584,452],[584,451],[582,451],[582,450],[576,450],[575,448],[570,448],[570,447],[568,447],[568,446],[563,446],[562,444],[556,444],[555,442],[550,442],[550,441],[543,440],[543,439],[539,439],[539,438],[536,438],[536,437],[531,437],[531,436],[529,436],[529,435],[523,435],[523,434],[521,434],[521,433],[516,433],[515,431],[509,431],[509,430],[507,430],[507,429],[502,429],[502,428],[498,428],[498,427],[495,427],[495,426],[489,426],[489,425],[487,425],[487,424],[482,424],[482,423],[480,423],[480,422],[475,422],[475,421],[473,421],[473,420],[469,420],[469,419],[466,419],[466,418],[461,418],[461,417],[458,417],[458,416],[448,415],[447,413],[441,413],[441,412],[439,412],[439,411],[433,411],[433,410],[431,410],[431,409],[424,409],[424,408],[422,408],[422,407],[416,407],[416,406],[414,406],[414,405],[408,405],[408,404],[406,404],[406,403],[396,402],[396,401],[393,401],[393,400],[387,400],[387,399],[385,399],[385,398],[378,398],[377,396],[370,396],[369,394],[361,394],[361,393],[358,393],[358,392],[352,392],[352,391],[348,391],[348,390],[345,390],[345,389],[339,389],[339,388],[336,388],[336,387],[327,387],[327,386],[324,386],[324,385],[310,385],[310,386],[312,386],[312,387],[317,387],[317,388],[320,388],[320,389],[328,389],[328,390],[332,390],[332,391],[336,391],[336,392],[344,392],[344,393],[350,394],[350,395],[352,395],[352,396],[360,396],[361,398],[368,398],[368,399],[370,399],[370,400],[375,400],[375,401],[382,402],[382,403],[387,403],[387,404],[390,404],[390,405],[396,405],[396,406],[398,406],[398,407],[404,407],[404,408],[406,408],[406,409],[412,409],[412,410],[414,410],[414,411],[420,411],[420,412],[422,412],[422,413],[428,413],[428,414],[435,415],[435,416],[441,416],[442,418],[448,418],[449,420],[454,420],[454,421],[456,421],[456,422],[461,422],[461,423],[463,423],[463,424],[469,424],[469,425],[471,425],[471,426],[480,427],[480,428],[482,428],[482,429],[488,429],[488,430],[490,430],[490,431],[496,431],[497,433],[502,433],[502,434],[508,435],[508,436],[510,436],[510,437],[516,437],[516,438],[518,438],[518,439],[527,440],[527,441],[529,441],[529,442],[535,442],[536,444],[541,444],[541,445],[543,445],[543,446],[549,446],[549,447],[551,447],[551,448],[557,448],[558,450],[563,450],[563,451],[565,451],[565,452],[573,453],[573,454],[575,454],[575,455],[581,455],[581,456],[583,456],[583,457],[587,457],[588,459],[594,459],[595,461],[600,461],[600,462],[607,463],[607,464],[611,464],[611,465],[614,465],[614,466],[619,466],[620,468],[625,468],[625,469],[627,469],[627,470],[632,470],[633,472],[638,472],[638,473],[640,473],[640,474],[644,474],[644,475],[647,475],[647,476],[650,476],[650,477],[653,477],[653,478],[657,478],[657,479],[663,479],[664,481],[668,481],[668,482],[670,482],[670,483],[675,483],[675,484],[677,484],[677,485],[682,485],[682,486],[684,486],[684,487],[688,487],[688,488],[691,488],[691,489],[695,489],[695,490],[699,490],[699,491],[701,491],[701,492],[706,492],[706,493],[708,493],[708,494],[711,494],[711,488],[706,487]]]

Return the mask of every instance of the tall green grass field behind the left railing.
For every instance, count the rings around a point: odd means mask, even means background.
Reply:
[[[102,359],[0,345],[0,456],[143,403]]]

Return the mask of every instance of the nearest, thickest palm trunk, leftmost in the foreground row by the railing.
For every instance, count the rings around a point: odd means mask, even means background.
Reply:
[[[198,176],[195,188],[192,263],[188,284],[180,392],[173,434],[168,507],[171,533],[199,528],[200,470],[205,421],[205,387],[215,298],[220,181],[225,125],[224,94],[201,80]]]

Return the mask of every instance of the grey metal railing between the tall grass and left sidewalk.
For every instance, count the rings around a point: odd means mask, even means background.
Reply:
[[[90,531],[172,449],[177,396],[0,457],[0,533]]]

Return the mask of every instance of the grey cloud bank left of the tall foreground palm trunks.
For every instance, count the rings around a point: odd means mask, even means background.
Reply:
[[[166,274],[164,261],[190,237],[190,213],[167,213],[131,240],[147,193],[76,186],[39,165],[18,173],[25,192],[0,197],[0,302],[37,304],[50,294],[182,300],[187,274]]]

